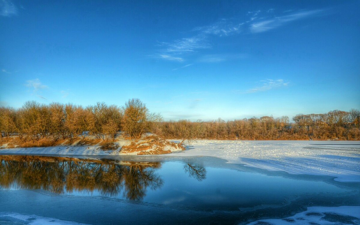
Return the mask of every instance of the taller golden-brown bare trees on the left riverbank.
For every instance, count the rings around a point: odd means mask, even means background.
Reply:
[[[139,139],[161,121],[160,114],[150,113],[139,99],[130,99],[125,106],[98,102],[82,107],[72,103],[39,104],[28,101],[19,109],[0,108],[0,136],[18,135],[21,139],[54,141],[85,138],[91,134],[98,139],[115,139],[118,131],[125,131],[130,139]]]

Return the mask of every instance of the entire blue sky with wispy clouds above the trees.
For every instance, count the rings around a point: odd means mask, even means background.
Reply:
[[[360,1],[0,0],[0,105],[165,120],[360,108]]]

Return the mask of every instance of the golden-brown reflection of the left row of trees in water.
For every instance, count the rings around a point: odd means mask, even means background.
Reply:
[[[141,200],[146,189],[160,188],[155,170],[159,162],[125,162],[67,157],[0,156],[0,186],[43,189],[55,193],[74,191],[116,195],[123,190],[129,200]]]

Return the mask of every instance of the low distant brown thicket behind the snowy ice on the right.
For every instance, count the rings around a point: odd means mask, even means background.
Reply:
[[[351,112],[355,116],[351,117]],[[170,139],[224,140],[360,140],[358,110],[330,111],[325,114],[298,114],[293,123],[287,116],[227,121],[188,120],[157,123],[156,131]]]

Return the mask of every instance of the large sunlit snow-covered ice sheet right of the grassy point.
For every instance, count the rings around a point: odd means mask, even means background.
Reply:
[[[171,155],[214,156],[270,171],[360,182],[360,141],[197,140],[188,150]]]

